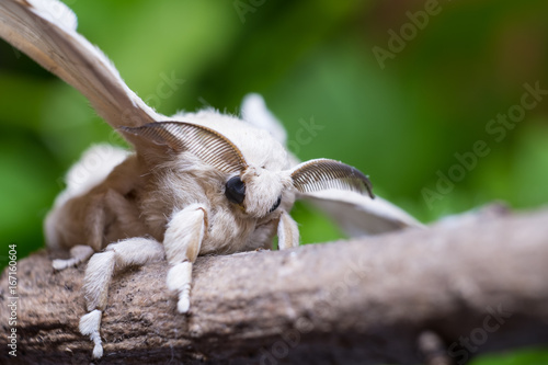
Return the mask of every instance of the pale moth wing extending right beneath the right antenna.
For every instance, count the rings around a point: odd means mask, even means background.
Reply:
[[[379,235],[408,227],[424,227],[390,202],[352,191],[322,190],[299,194],[333,219],[351,237]]]

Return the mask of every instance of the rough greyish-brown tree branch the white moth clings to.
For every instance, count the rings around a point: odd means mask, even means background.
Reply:
[[[91,360],[78,331],[84,266],[54,272],[54,255],[18,263],[15,358],[3,273],[2,363]],[[425,361],[422,349],[442,364],[548,341],[547,210],[199,258],[187,316],[175,312],[165,272],[158,263],[116,276],[96,363],[412,364]]]

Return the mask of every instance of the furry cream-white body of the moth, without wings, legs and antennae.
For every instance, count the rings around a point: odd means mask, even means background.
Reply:
[[[94,186],[84,190],[76,183],[71,185],[68,179],[69,186],[60,194],[62,204],[56,206],[46,219],[47,244],[70,249],[85,243],[99,251],[111,242],[142,235],[150,235],[161,242],[173,214],[191,204],[201,204],[207,213],[208,229],[199,254],[270,249],[281,212],[289,212],[295,202],[295,194],[290,190],[282,194],[282,190],[288,186],[288,175],[284,176],[282,171],[289,168],[283,146],[266,130],[214,111],[179,115],[176,118],[204,125],[229,136],[249,161],[249,173],[266,175],[265,180],[270,183],[264,192],[258,192],[262,196],[252,197],[253,202],[260,202],[264,210],[283,195],[279,207],[259,217],[242,212],[239,206],[228,202],[224,194],[225,183],[230,174],[219,173],[214,168],[204,166],[191,153],[183,152],[150,169],[146,167],[147,157],[132,153],[119,166],[111,167],[107,174],[102,171],[105,176]],[[101,155],[96,147],[88,153],[92,152]],[[82,159],[84,161],[80,163],[83,164],[87,156]],[[76,168],[78,166],[73,169]],[[96,179],[96,173],[90,174],[90,178]],[[79,182],[80,185],[87,183]],[[71,191],[76,194],[67,199],[67,193],[70,194]],[[105,214],[105,230],[100,235],[101,241],[81,242],[83,227],[80,223],[85,219],[80,219],[80,216],[95,216],[92,210],[98,201],[104,201],[106,206],[119,206],[118,201],[124,201],[129,208],[121,214]],[[70,229],[71,221],[75,225],[73,233]],[[92,237],[93,235],[87,235],[83,238]]]

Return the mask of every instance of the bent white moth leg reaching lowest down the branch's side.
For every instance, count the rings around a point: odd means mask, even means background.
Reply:
[[[103,356],[99,330],[114,272],[130,265],[144,265],[149,262],[160,261],[163,258],[162,244],[146,238],[130,238],[117,243],[111,243],[105,251],[91,256],[83,280],[83,292],[89,312],[80,319],[79,329],[83,335],[89,335],[90,340],[93,341],[94,358]]]

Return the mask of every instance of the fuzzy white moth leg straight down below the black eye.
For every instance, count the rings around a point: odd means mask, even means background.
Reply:
[[[167,285],[179,296],[176,309],[181,313],[191,306],[192,264],[199,253],[207,229],[207,210],[201,204],[192,204],[175,213],[168,224],[163,247],[171,267]]]

